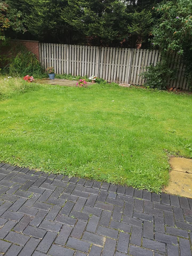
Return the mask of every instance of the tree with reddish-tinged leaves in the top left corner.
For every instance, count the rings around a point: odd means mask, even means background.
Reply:
[[[12,8],[7,2],[0,3],[0,41],[6,40],[6,30],[26,31],[23,26],[22,13]]]

